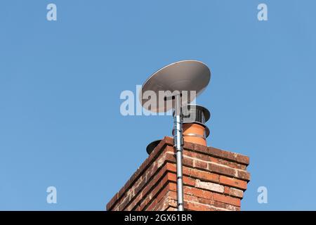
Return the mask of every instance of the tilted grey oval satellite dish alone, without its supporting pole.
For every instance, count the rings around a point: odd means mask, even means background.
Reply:
[[[176,63],[166,65],[164,68],[154,72],[143,84],[140,91],[140,103],[146,110],[155,113],[162,113],[174,108],[175,102],[173,93],[180,92],[181,106],[195,100],[195,98],[204,91],[209,84],[211,72],[202,62],[197,60],[182,60]],[[145,104],[148,99],[143,99],[144,93],[150,91],[156,96],[156,104]],[[165,98],[159,98],[159,91],[165,91]],[[166,92],[167,91],[167,92]],[[195,91],[195,94],[190,91]],[[162,101],[172,99],[172,104],[165,104]]]

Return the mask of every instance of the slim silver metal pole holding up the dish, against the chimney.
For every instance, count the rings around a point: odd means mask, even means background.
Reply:
[[[182,135],[182,112],[181,112],[181,96],[175,96],[175,109],[173,115],[173,144],[176,148],[177,160],[177,197],[178,211],[183,211],[183,175],[182,175],[182,158],[183,158],[183,135]]]

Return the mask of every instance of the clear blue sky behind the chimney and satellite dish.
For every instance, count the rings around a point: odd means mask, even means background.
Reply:
[[[54,3],[58,20],[46,20]],[[257,6],[268,5],[259,22]],[[123,117],[176,60],[202,60],[211,146],[249,155],[242,210],[316,210],[316,1],[0,3],[0,210],[104,210],[171,117]],[[46,203],[55,186],[58,203]],[[257,188],[268,188],[268,204]]]

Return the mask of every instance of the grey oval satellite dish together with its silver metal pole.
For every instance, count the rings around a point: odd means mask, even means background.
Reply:
[[[176,165],[177,165],[177,195],[178,195],[178,211],[183,211],[183,115],[181,112],[181,102],[191,103],[199,94],[204,91],[209,80],[211,79],[211,71],[204,63],[197,60],[182,60],[176,63],[166,65],[164,68],[154,72],[142,86],[140,91],[139,100],[143,108],[150,110],[154,113],[168,112],[174,109],[173,115],[173,140],[174,148],[176,150]],[[159,104],[146,104],[148,98],[144,98],[146,91],[155,94],[150,94],[151,98],[156,98],[156,103]],[[162,104],[162,99],[159,97],[165,91],[164,101],[171,99],[172,104]],[[166,96],[166,91],[178,92],[173,96]],[[181,96],[183,91],[195,91],[195,96],[190,96],[184,99]],[[194,97],[194,98],[193,98]],[[183,99],[181,99],[183,98]],[[185,100],[185,101],[184,101]]]

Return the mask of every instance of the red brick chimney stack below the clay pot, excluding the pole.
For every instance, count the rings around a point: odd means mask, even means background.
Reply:
[[[249,158],[187,141],[183,148],[185,210],[239,211],[250,180]],[[173,139],[165,137],[107,203],[107,210],[177,210],[174,154]]]

